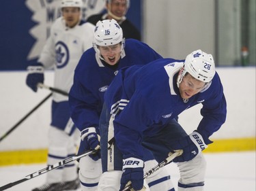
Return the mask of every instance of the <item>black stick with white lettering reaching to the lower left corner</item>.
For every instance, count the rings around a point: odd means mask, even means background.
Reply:
[[[41,169],[41,170],[39,170],[39,171],[36,171],[35,173],[31,173],[30,175],[25,176],[23,179],[19,179],[19,180],[17,180],[17,181],[12,182],[12,183],[5,184],[4,186],[1,186],[1,187],[0,187],[0,191],[6,190],[6,189],[8,189],[8,188],[11,188],[12,186],[15,186],[15,185],[17,185],[17,184],[20,184],[20,183],[22,183],[23,181],[27,181],[27,180],[29,180],[29,179],[32,179],[33,177],[37,177],[37,176],[42,175],[42,174],[44,174],[44,173],[48,173],[48,171],[52,171],[53,169],[57,169],[57,168],[63,166],[64,164],[68,164],[69,162],[72,162],[72,161],[74,161],[74,160],[78,160],[79,158],[82,158],[82,157],[87,156],[87,155],[89,155],[89,154],[94,154],[94,153],[96,153],[96,152],[98,152],[98,151],[99,151],[99,150],[90,150],[90,151],[85,152],[84,154],[81,154],[81,155],[79,155],[79,156],[77,156],[77,155],[70,156],[70,157],[66,158],[65,160],[62,160],[62,161],[60,161],[60,162],[58,162],[58,163],[56,163],[56,164],[49,165],[48,167],[46,167],[46,168],[44,168],[44,169]]]

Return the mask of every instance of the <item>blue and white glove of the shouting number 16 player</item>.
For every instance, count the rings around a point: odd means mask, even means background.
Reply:
[[[81,133],[81,143],[79,146],[78,154],[83,154],[87,150],[98,150],[100,149],[100,135],[96,133],[95,127],[88,127]],[[93,160],[98,160],[100,158],[100,152],[96,154],[89,155]]]

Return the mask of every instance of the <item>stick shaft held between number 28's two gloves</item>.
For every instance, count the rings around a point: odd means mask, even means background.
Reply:
[[[169,162],[171,162],[174,158],[176,158],[177,156],[182,155],[183,150],[176,150],[173,154],[171,154],[170,156],[168,156],[167,158],[165,158],[164,161],[160,162],[159,164],[157,164],[155,167],[153,167],[152,169],[150,169],[150,171],[147,171],[147,173],[145,173],[143,175],[143,179],[146,179],[147,177],[149,177],[150,175],[152,175],[155,171],[158,171],[160,168],[164,167],[166,164],[168,164]],[[124,188],[124,190],[122,191],[131,191],[132,190],[132,184],[128,184],[128,186],[126,186],[126,188]]]

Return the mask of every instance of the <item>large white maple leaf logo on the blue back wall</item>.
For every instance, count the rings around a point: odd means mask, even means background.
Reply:
[[[104,10],[105,0],[83,0],[82,17],[88,18]],[[36,24],[29,30],[29,34],[36,40],[27,55],[27,60],[38,58],[46,39],[50,35],[51,25],[61,16],[61,0],[26,0],[25,4],[33,13],[31,20]]]

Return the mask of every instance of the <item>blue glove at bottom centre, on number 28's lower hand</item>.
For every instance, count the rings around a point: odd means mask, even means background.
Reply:
[[[144,162],[139,158],[124,159],[120,190],[124,190],[129,181],[131,181],[134,190],[143,189],[143,167]]]

